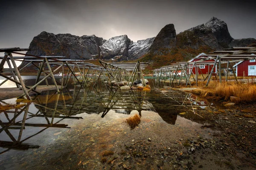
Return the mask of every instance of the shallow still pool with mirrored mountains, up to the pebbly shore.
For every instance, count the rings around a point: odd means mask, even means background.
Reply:
[[[0,113],[1,169],[59,169],[64,164],[73,169],[81,159],[93,169],[103,150],[118,150],[134,139],[177,141],[212,133],[201,126],[211,125],[218,105],[180,91],[163,93],[163,85],[150,84],[151,92],[70,86]],[[141,123],[131,130],[125,119],[134,114]]]

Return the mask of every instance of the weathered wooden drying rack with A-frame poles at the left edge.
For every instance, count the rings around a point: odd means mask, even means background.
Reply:
[[[72,59],[62,59],[64,58],[63,56],[35,56],[35,55],[30,55],[30,54],[23,54],[23,53],[19,53],[17,51],[29,51],[29,48],[19,48],[19,47],[15,47],[15,48],[0,48],[0,52],[4,52],[4,56],[0,57],[0,59],[2,59],[2,61],[0,62],[0,76],[4,77],[6,80],[4,80],[3,82],[0,83],[0,86],[3,85],[7,80],[10,80],[12,82],[15,82],[17,88],[19,88],[20,90],[23,90],[23,94],[20,95],[18,98],[22,98],[23,96],[26,96],[26,99],[31,100],[30,96],[29,96],[29,92],[30,91],[34,91],[37,94],[41,94],[39,91],[36,91],[36,87],[38,85],[40,85],[42,82],[46,82],[47,86],[48,81],[47,78],[50,77],[52,79],[52,82],[55,85],[55,88],[57,90],[58,93],[60,93],[59,91],[59,87],[57,85],[57,83],[59,85],[61,85],[61,89],[67,86],[68,81],[70,80],[70,77],[73,75],[73,80],[74,82],[78,82],[81,86],[88,87],[87,85],[87,80],[90,77],[90,80],[96,80],[98,78],[98,73],[103,69],[101,66],[98,65],[94,65],[92,63],[89,62],[84,62],[84,61],[80,61],[80,60],[72,60]],[[20,55],[24,55],[24,57],[13,57],[13,54],[20,54]],[[9,61],[11,60],[11,62]],[[22,68],[18,68],[15,61],[23,61],[23,62],[28,62],[25,66],[23,66]],[[7,62],[9,68],[3,68],[4,64]],[[36,63],[38,63],[39,65],[36,65]],[[35,85],[33,85],[32,87],[26,86],[23,82],[23,79],[20,75],[20,71],[22,71],[24,68],[26,68],[28,65],[34,65],[36,68],[38,68],[38,73],[37,73],[37,77],[36,77],[36,81],[35,81]],[[56,65],[58,66],[55,70],[52,70],[51,65]],[[66,66],[68,68],[68,77],[64,83],[64,66]],[[48,70],[45,70],[45,68],[47,68]],[[62,77],[61,77],[61,82],[58,82],[55,77],[54,77],[54,73],[56,71],[58,71],[60,68],[62,68]],[[78,77],[75,74],[75,69],[77,68],[77,70],[79,71],[79,74],[81,74],[82,78],[82,82],[79,81]],[[83,71],[81,71],[81,69]],[[88,69],[87,73],[85,74],[85,69]],[[48,73],[47,73],[48,72]],[[4,73],[11,73],[12,75],[10,77],[6,76]],[[44,75],[44,78],[40,79],[41,74]],[[17,76],[17,78],[16,78]]]

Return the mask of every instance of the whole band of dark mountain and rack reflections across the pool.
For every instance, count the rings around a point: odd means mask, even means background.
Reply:
[[[35,96],[31,104],[21,108],[0,113],[0,154],[8,150],[28,150],[40,145],[26,143],[48,128],[70,128],[64,119],[83,119],[80,113],[99,114],[104,118],[111,110],[115,113],[130,114],[131,111],[157,112],[168,124],[175,125],[177,116],[182,116],[204,125],[211,124],[215,106],[211,102],[199,100],[197,97],[163,86],[147,93],[145,91],[121,91],[108,88],[104,84],[95,88],[72,86],[61,93],[46,91]],[[15,101],[9,100],[9,101]],[[0,101],[1,105],[7,100]],[[20,103],[17,103],[17,105]],[[114,120],[113,120],[114,121]],[[69,121],[65,121],[68,122]],[[39,139],[38,139],[39,140]],[[40,143],[40,142],[39,142]]]

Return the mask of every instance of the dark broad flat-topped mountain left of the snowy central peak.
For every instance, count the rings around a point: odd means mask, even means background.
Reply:
[[[26,54],[37,56],[65,56],[65,59],[91,59],[100,55],[99,46],[103,38],[95,35],[81,37],[71,34],[52,34],[41,32],[29,45],[31,51]]]

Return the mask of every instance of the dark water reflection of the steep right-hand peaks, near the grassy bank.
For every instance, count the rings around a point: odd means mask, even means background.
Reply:
[[[169,124],[175,124],[177,114],[202,124],[209,123],[216,116],[212,114],[212,109],[215,108],[213,103],[200,101],[198,97],[179,90],[159,90],[158,88],[161,87],[159,84],[155,86],[157,88],[151,94],[149,101],[162,119]]]

